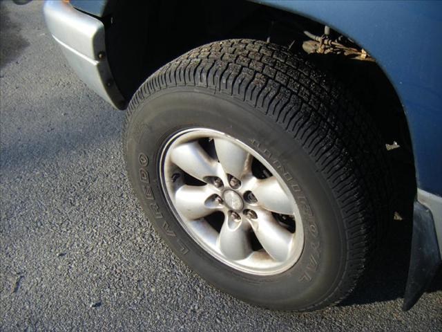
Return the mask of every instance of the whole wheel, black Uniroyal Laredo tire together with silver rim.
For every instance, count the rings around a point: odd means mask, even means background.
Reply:
[[[142,84],[128,177],[148,219],[208,282],[311,311],[356,285],[389,217],[381,140],[351,94],[286,48],[215,42]]]

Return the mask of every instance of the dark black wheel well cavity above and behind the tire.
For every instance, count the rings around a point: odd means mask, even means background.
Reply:
[[[324,26],[300,15],[249,1],[119,1],[104,18],[106,52],[115,82],[130,100],[157,68],[202,44],[231,38],[269,40],[304,52],[309,30],[322,35]],[[367,50],[369,52],[369,50]],[[376,62],[339,55],[309,55],[312,62],[352,89],[372,114],[389,151],[395,184],[394,208],[412,216],[416,194],[414,156],[405,112],[387,75]]]

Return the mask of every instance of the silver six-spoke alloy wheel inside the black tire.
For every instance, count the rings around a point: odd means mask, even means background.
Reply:
[[[258,151],[226,133],[195,128],[171,137],[160,160],[169,206],[206,252],[254,275],[296,263],[304,244],[298,205]]]

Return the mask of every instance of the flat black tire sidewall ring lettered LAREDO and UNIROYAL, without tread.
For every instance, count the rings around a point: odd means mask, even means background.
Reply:
[[[258,151],[285,178],[305,234],[300,259],[283,273],[256,276],[202,250],[175,219],[160,184],[160,154],[177,131],[222,131]],[[229,95],[181,86],[150,95],[126,127],[126,167],[149,221],[173,251],[204,279],[248,302],[285,310],[320,306],[344,273],[345,232],[332,190],[307,151],[269,115]]]

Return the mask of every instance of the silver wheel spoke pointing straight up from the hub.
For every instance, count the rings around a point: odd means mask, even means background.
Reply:
[[[216,154],[224,172],[241,178],[249,167],[249,153],[229,140],[215,138],[214,141]]]

